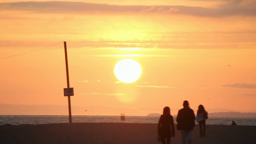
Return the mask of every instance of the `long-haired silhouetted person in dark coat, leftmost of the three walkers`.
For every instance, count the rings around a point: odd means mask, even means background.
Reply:
[[[174,120],[168,106],[164,107],[163,114],[160,116],[158,134],[161,137],[162,144],[170,144],[171,137],[175,136]]]

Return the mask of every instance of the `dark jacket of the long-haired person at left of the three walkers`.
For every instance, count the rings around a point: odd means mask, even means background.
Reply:
[[[171,115],[161,115],[158,122],[158,134],[161,137],[175,136],[174,120]]]

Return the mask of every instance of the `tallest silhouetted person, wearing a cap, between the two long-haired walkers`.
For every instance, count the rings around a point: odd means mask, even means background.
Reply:
[[[192,130],[195,126],[195,113],[189,107],[187,100],[183,102],[183,108],[178,111],[176,118],[177,128],[181,130],[182,144],[186,144],[186,139],[188,139],[188,144],[192,144]]]

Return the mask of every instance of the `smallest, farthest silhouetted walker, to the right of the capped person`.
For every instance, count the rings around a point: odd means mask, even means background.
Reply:
[[[206,112],[206,110],[204,109],[204,106],[202,104],[200,104],[198,106],[198,110],[196,113],[196,122],[198,122],[199,127],[200,127],[200,137],[202,138],[203,136],[205,136],[205,130],[206,130],[206,119],[208,119],[208,112]]]

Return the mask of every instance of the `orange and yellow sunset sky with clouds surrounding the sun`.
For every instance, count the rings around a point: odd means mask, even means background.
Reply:
[[[0,104],[45,109],[0,114],[68,115],[64,41],[73,115],[256,112],[255,0],[0,0],[0,21]]]

